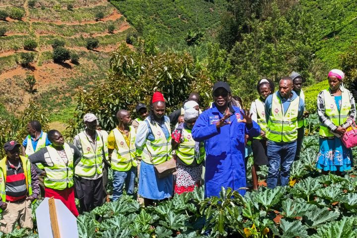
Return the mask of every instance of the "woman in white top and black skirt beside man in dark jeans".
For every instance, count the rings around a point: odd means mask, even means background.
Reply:
[[[265,119],[265,99],[274,92],[274,83],[270,79],[260,79],[257,83],[259,98],[255,99],[250,106],[251,118],[260,126],[260,135],[254,137],[251,143],[253,151],[253,165],[251,168],[253,189],[258,190],[257,171],[260,166],[268,165],[267,139],[265,137],[267,122]]]

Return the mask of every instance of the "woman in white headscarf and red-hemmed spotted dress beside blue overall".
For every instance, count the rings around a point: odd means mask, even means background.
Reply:
[[[195,108],[186,108],[184,123],[172,133],[172,147],[176,149],[177,179],[175,193],[191,192],[195,186],[200,186],[202,163],[205,159],[203,142],[192,138],[191,130],[198,118]]]

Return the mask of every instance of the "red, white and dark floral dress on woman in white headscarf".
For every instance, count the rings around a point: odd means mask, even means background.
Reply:
[[[186,128],[185,123],[179,124],[179,126],[173,131],[172,138],[176,143],[183,142],[182,129]],[[187,128],[186,128],[187,129]],[[199,153],[199,143],[196,142],[195,153]],[[193,191],[195,186],[200,185],[200,180],[202,176],[202,164],[197,166],[185,166],[176,162],[176,184],[175,184],[175,193],[181,194],[183,192]]]

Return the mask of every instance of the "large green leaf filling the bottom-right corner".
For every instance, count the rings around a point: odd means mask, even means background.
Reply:
[[[343,217],[341,221],[319,227],[311,238],[356,238],[354,223],[356,224],[356,218]]]

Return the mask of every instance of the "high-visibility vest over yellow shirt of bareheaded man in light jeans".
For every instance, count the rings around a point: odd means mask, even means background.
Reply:
[[[112,153],[111,166],[113,170],[116,171],[128,171],[132,166],[136,167],[136,157],[135,157],[135,138],[136,133],[133,126],[130,128],[130,144],[127,145],[124,136],[121,134],[118,128],[113,130],[114,137],[117,143],[117,149],[114,149]]]

